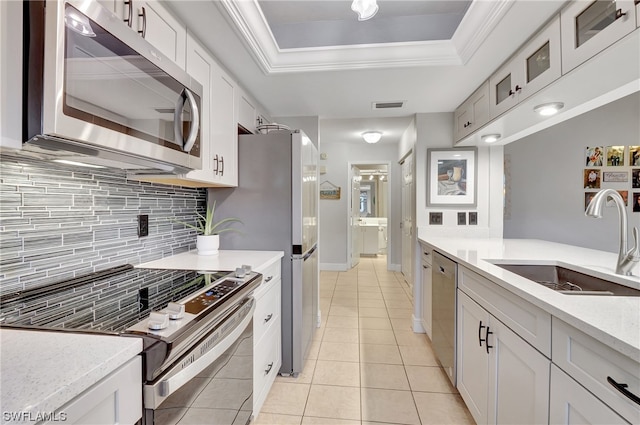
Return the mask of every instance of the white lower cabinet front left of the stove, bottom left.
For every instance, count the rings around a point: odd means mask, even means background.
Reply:
[[[128,363],[58,409],[47,424],[134,424],[142,417],[142,359]]]

